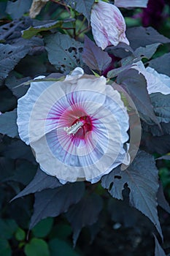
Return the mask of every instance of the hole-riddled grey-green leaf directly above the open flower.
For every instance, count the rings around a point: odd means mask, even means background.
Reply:
[[[70,72],[82,66],[82,43],[77,42],[66,34],[52,34],[45,37],[48,59],[58,71]]]

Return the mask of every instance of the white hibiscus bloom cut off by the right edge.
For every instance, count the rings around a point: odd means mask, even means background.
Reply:
[[[144,67],[142,61],[136,62],[133,66],[139,73],[144,75],[147,80],[147,91],[149,94],[160,92],[161,94],[170,94],[170,78],[168,75],[158,73],[152,67]]]

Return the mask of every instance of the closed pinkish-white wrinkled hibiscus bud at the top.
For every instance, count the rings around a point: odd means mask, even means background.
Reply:
[[[96,45],[102,50],[119,42],[129,45],[125,37],[125,20],[115,5],[104,1],[93,4],[90,23]]]

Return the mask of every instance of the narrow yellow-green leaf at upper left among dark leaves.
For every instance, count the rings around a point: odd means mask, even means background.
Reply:
[[[70,20],[67,20],[67,22],[70,22]],[[53,22],[48,22],[47,24],[41,26],[30,26],[28,29],[22,31],[23,38],[30,39],[31,37],[36,36],[36,34],[38,34],[39,32],[59,28],[62,24],[63,20],[57,20]]]

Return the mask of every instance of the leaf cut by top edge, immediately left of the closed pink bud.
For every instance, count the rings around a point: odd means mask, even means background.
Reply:
[[[70,5],[77,12],[82,13],[90,22],[90,12],[95,0],[66,0],[66,4]]]

